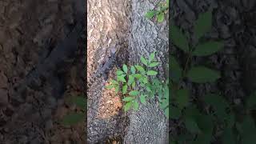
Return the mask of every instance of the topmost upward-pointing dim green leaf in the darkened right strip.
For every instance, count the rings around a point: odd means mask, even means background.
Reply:
[[[210,31],[212,26],[212,12],[207,11],[204,14],[199,14],[198,20],[194,24],[194,36],[199,39],[208,31]]]

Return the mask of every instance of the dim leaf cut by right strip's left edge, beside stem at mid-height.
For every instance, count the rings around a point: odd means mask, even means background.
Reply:
[[[178,82],[182,78],[182,68],[173,56],[170,56],[170,78],[174,82]]]

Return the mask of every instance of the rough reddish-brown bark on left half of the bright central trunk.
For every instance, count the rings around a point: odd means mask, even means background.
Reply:
[[[118,62],[125,62],[129,34],[130,1],[87,1],[87,142],[104,143],[106,138],[123,136],[126,118],[122,114],[120,95],[106,90],[103,76],[94,78],[101,70],[110,46],[121,46]],[[110,77],[113,78],[113,71]]]

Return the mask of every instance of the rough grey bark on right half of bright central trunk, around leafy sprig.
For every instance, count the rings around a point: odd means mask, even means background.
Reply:
[[[156,58],[161,63],[158,69],[160,78],[165,78],[168,59],[168,20],[162,23],[151,22],[145,18],[148,10],[154,9],[159,1],[132,1],[130,58],[131,64],[140,62],[140,57],[148,57],[156,51]],[[166,18],[168,19],[168,18]],[[129,114],[130,123],[124,143],[168,143],[168,121],[157,102],[151,101],[146,106],[140,105],[138,111]]]

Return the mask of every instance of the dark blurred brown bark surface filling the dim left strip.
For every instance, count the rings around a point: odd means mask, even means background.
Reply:
[[[78,33],[74,54],[56,47],[85,21],[81,3],[0,2],[0,143],[86,142],[83,124],[64,127],[59,122],[75,109],[65,99],[84,91],[86,32]],[[56,51],[62,58],[54,63]],[[40,72],[40,66],[48,66],[48,72]]]

